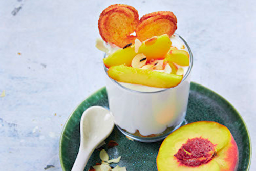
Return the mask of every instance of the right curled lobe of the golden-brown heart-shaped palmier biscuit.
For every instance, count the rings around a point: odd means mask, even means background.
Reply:
[[[137,38],[144,41],[152,36],[168,34],[172,36],[177,29],[177,18],[169,11],[159,11],[144,15],[136,27]]]

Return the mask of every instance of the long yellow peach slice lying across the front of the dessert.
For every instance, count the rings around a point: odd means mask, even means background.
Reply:
[[[177,86],[183,76],[166,74],[124,65],[113,66],[108,70],[109,77],[120,82],[140,84],[157,88],[172,88]]]

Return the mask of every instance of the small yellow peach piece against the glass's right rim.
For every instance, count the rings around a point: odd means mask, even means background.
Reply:
[[[164,61],[174,62],[180,66],[189,66],[189,53],[185,50],[171,50],[165,55]]]

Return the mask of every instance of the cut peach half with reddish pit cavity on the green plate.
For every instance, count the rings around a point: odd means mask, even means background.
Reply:
[[[238,147],[226,126],[199,121],[180,127],[162,143],[158,171],[235,171]]]

